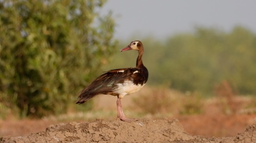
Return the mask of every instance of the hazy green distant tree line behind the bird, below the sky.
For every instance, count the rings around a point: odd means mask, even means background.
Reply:
[[[216,85],[228,81],[239,94],[256,94],[256,34],[248,29],[237,26],[223,32],[196,27],[194,33],[162,41],[154,37],[140,40],[149,70],[148,84],[211,95]],[[121,42],[120,47],[126,45]],[[136,56],[136,52],[118,54],[112,67],[135,66]]]

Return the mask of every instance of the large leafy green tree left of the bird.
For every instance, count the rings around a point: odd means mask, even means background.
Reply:
[[[96,12],[103,4],[1,0],[0,105],[22,117],[67,112],[115,50],[114,20]]]

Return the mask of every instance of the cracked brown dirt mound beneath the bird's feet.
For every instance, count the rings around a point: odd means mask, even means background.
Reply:
[[[203,129],[198,129],[203,130]],[[192,136],[183,129],[179,120],[142,119],[50,125],[46,131],[24,137],[1,137],[0,143],[254,143],[256,124],[235,137]]]

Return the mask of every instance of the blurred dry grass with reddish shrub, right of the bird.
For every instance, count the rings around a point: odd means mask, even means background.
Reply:
[[[217,91],[215,97],[204,98],[197,92],[183,94],[165,87],[145,87],[133,96],[133,107],[128,109],[150,117],[256,113],[256,97],[234,94],[228,82],[220,84]]]

